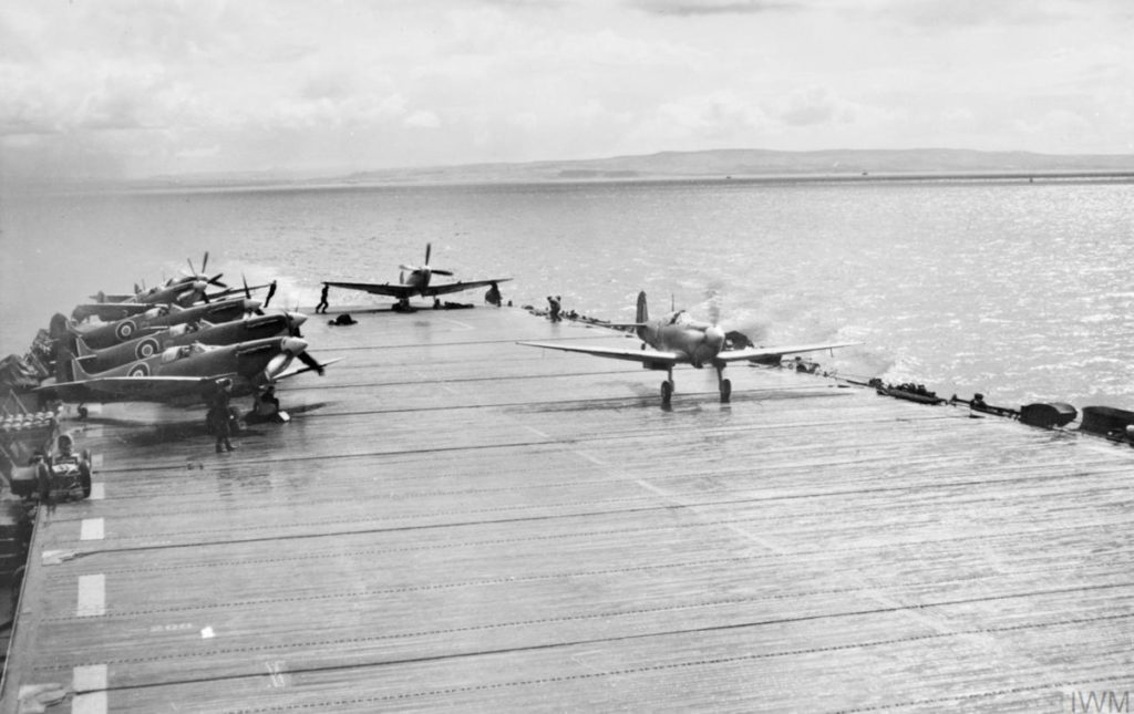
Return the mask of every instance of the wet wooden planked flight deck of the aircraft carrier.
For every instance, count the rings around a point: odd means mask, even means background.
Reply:
[[[657,373],[513,345],[618,337],[359,318],[308,325],[347,359],[235,454],[200,414],[92,427],[107,499],[41,524],[81,556],[29,573],[10,678],[107,664],[127,712],[1059,711],[1134,671],[1129,450],[752,368],[663,411]]]

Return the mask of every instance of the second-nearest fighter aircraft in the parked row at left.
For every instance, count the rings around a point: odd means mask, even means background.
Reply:
[[[299,313],[253,315],[220,324],[187,322],[159,330],[153,334],[127,340],[104,349],[92,349],[83,338],[76,338],[79,364],[87,373],[104,372],[135,359],[153,357],[170,347],[201,342],[202,345],[236,345],[270,337],[299,334],[299,325],[307,316]]]

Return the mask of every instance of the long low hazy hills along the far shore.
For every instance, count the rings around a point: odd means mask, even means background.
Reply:
[[[285,171],[154,177],[137,188],[235,188],[405,185],[528,184],[680,179],[904,179],[942,177],[1134,178],[1134,154],[1057,155],[959,148],[765,151],[730,148],[661,152],[577,161],[480,163],[383,169],[349,176],[299,176]]]

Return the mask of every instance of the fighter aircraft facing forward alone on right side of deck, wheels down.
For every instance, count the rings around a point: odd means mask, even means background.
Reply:
[[[661,320],[650,320],[646,311],[645,292],[638,292],[637,321],[628,324],[611,324],[612,328],[633,328],[645,345],[642,349],[618,349],[611,347],[569,346],[556,342],[521,342],[530,347],[583,352],[611,359],[627,359],[642,363],[646,369],[665,369],[668,374],[661,383],[661,403],[669,405],[674,396],[674,365],[692,364],[696,368],[711,365],[717,369],[717,383],[721,402],[728,402],[733,383],[725,379],[725,367],[730,362],[767,360],[769,357],[812,352],[836,347],[850,347],[857,342],[832,342],[824,345],[795,345],[788,347],[748,347],[725,349],[725,330],[714,323],[697,322],[685,311],[669,313]],[[649,349],[648,349],[649,347]]]

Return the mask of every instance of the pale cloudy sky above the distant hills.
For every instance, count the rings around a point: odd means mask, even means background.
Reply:
[[[6,0],[5,182],[1134,153],[1128,0]]]

